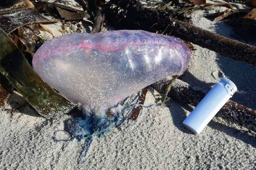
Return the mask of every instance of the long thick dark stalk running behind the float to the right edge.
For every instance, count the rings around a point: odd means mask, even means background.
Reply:
[[[120,10],[123,12],[118,13],[117,11]],[[173,19],[171,14],[143,7],[136,0],[111,0],[103,8],[103,11],[105,12],[105,20],[116,28],[164,32],[221,55],[256,65],[255,46],[195,27],[191,23]]]

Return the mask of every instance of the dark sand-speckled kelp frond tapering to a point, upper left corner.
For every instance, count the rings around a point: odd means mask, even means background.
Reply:
[[[32,8],[18,9],[0,14],[0,28],[8,34],[26,24],[55,23],[57,21],[58,20],[48,20]]]

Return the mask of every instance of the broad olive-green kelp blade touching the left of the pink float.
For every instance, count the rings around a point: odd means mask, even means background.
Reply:
[[[15,43],[0,29],[0,72],[43,116],[67,112],[73,104],[57,94],[33,71]]]

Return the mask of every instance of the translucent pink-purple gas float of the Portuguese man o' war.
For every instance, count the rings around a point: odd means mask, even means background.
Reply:
[[[45,42],[33,57],[36,73],[84,113],[107,109],[140,89],[182,74],[191,52],[171,36],[141,30],[67,34]]]

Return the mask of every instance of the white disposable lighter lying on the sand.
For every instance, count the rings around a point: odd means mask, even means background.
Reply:
[[[183,121],[183,124],[199,134],[236,91],[236,85],[222,77]]]

